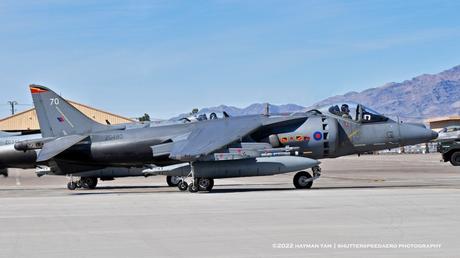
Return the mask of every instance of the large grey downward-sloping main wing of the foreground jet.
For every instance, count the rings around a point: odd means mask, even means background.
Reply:
[[[194,161],[242,139],[262,126],[259,116],[201,122],[187,139],[174,142],[170,158]]]

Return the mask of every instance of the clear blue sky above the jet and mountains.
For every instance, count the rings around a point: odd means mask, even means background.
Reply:
[[[125,116],[309,105],[460,64],[459,1],[0,1],[0,116],[27,86]],[[20,106],[24,109],[27,106]]]

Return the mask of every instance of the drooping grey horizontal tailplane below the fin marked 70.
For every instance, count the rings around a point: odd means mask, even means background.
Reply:
[[[69,135],[46,142],[38,154],[37,162],[50,160],[87,137],[88,135]]]

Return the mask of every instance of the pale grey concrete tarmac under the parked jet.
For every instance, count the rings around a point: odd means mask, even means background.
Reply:
[[[216,180],[181,193],[165,177],[66,189],[65,177],[0,177],[0,257],[457,257],[460,167],[440,154],[322,160],[293,174]]]

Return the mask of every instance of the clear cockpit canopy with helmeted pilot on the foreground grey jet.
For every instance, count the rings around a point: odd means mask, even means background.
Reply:
[[[357,103],[338,103],[329,106],[327,112],[362,123],[376,123],[388,121],[388,117]],[[324,111],[323,111],[324,112]]]

